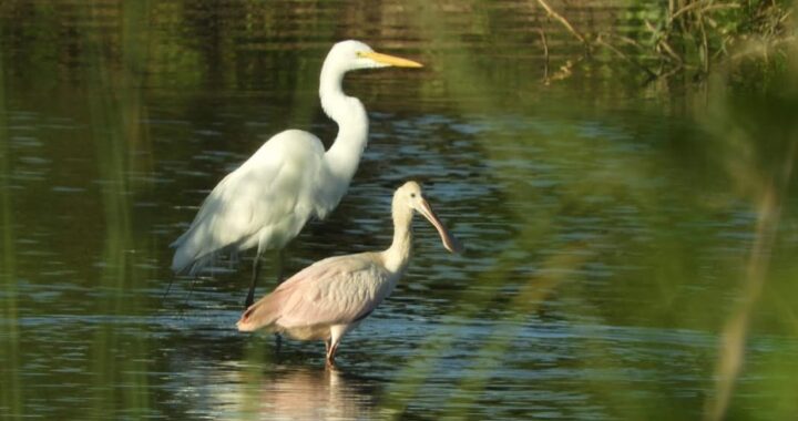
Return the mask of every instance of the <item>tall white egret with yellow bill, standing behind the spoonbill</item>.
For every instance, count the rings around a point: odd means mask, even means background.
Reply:
[[[288,130],[274,135],[205,198],[191,227],[172,247],[175,273],[196,274],[223,251],[257,246],[253,278],[245,305],[253,302],[260,255],[282,249],[311,216],[332,210],[349,187],[368,141],[368,116],[362,103],[347,96],[344,74],[357,69],[420,68],[421,64],[380,54],[359,41],[342,41],[321,66],[319,96],[327,115],[338,123],[329,151],[315,135]]]

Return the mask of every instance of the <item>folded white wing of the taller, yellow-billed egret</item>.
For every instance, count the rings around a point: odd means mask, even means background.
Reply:
[[[208,194],[188,230],[173,243],[172,268],[182,270],[225,247],[253,247],[260,229],[274,233],[272,247],[296,236],[314,210],[324,152],[307,132],[272,137]]]

